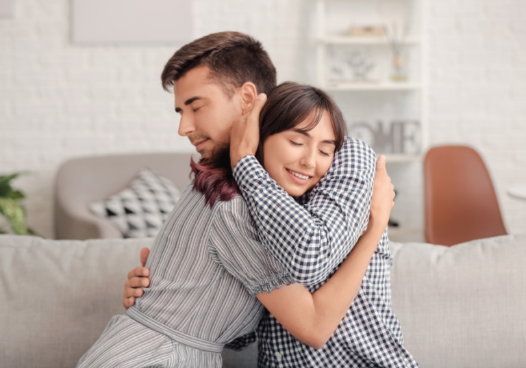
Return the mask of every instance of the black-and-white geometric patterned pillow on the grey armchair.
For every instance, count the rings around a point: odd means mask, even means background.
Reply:
[[[181,192],[170,180],[144,168],[120,193],[93,202],[90,210],[110,220],[124,237],[155,237],[179,198]]]

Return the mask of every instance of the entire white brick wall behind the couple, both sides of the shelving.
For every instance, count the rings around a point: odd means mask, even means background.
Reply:
[[[195,36],[243,31],[260,39],[279,81],[314,82],[312,1],[195,0]],[[53,237],[53,177],[64,160],[132,151],[192,151],[177,135],[173,96],[160,73],[177,45],[79,47],[69,43],[69,1],[16,0],[0,19],[0,172],[31,170],[29,224]],[[474,146],[486,160],[510,233],[525,232],[526,27],[523,1],[429,1],[431,144]],[[393,214],[422,228],[421,164],[390,164]]]

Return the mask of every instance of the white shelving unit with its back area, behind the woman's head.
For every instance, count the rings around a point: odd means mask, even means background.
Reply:
[[[353,18],[360,19],[366,14],[371,15],[368,0],[355,0],[352,1],[353,5],[349,6],[347,6],[348,1],[338,1],[340,4],[332,1],[329,6],[327,5],[329,1],[315,0],[316,36],[311,42],[316,47],[316,85],[332,94],[342,105],[349,101],[345,114],[363,117],[374,132],[376,130],[372,123],[378,120],[379,116],[382,121],[387,122],[394,122],[402,116],[412,116],[412,120],[419,122],[421,150],[417,154],[384,153],[384,155],[387,157],[387,163],[392,163],[395,170],[400,170],[404,166],[421,165],[427,150],[428,134],[427,55],[425,53],[427,37],[423,33],[423,29],[426,29],[423,9],[427,6],[423,4],[427,3],[427,0],[395,1],[396,10],[392,10],[393,14],[407,15],[404,19],[396,20],[393,25],[395,31],[407,29],[405,31],[407,34],[398,41],[403,52],[409,54],[403,55],[404,59],[407,59],[404,61],[408,63],[408,66],[404,67],[407,79],[401,81],[391,79],[392,43],[386,35],[350,36],[345,30],[349,28],[349,24],[353,24]],[[381,19],[382,14],[379,10],[376,15]],[[349,53],[352,50],[365,53],[366,59],[374,57],[375,65],[380,66],[381,70],[371,74],[370,80],[354,79],[353,75],[356,74],[351,73],[354,72],[353,65],[345,64],[352,56]],[[369,53],[371,57],[368,56]],[[359,62],[360,60],[358,64]],[[359,66],[355,65],[356,68]],[[376,103],[378,103],[378,108],[376,108]],[[396,104],[396,108],[392,108],[392,104]],[[368,138],[368,134],[363,137]],[[374,137],[371,139],[374,140]],[[398,135],[395,137],[395,134],[392,134],[389,137],[386,136],[386,140],[392,144],[392,147],[395,147],[395,143],[399,143],[400,139]],[[377,148],[388,150],[384,144],[377,144]],[[377,152],[379,153],[381,152]],[[405,238],[407,235],[405,233],[408,231],[405,229],[401,232],[397,229],[393,233],[404,233],[402,237]],[[418,237],[417,234],[413,235],[415,238]]]

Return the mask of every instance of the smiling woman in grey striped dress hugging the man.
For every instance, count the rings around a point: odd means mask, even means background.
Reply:
[[[301,196],[329,169],[345,122],[324,92],[290,86],[273,90],[265,109],[286,115],[290,104],[301,103],[302,113],[283,127],[262,121],[258,158],[288,194]],[[288,103],[280,94],[284,88]],[[300,142],[305,135],[310,140]],[[309,157],[299,153],[303,148]],[[297,169],[304,159],[315,167],[309,175]],[[221,367],[223,345],[253,330],[263,306],[297,339],[323,346],[353,302],[387,225],[394,192],[382,168],[379,163],[366,233],[338,272],[311,294],[258,244],[229,156],[192,163],[195,179],[151,250],[150,287],[126,315],[112,318],[77,367]]]

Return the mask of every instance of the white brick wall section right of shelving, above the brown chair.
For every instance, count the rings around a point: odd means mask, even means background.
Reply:
[[[429,1],[429,140],[475,148],[509,233],[526,232],[526,3]]]

